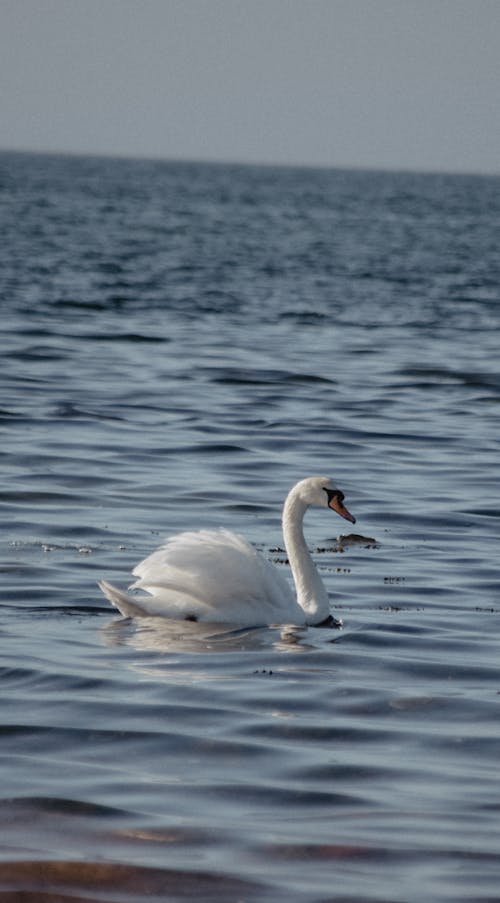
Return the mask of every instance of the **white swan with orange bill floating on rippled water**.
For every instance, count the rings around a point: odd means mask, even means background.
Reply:
[[[223,528],[178,533],[141,561],[130,596],[105,580],[99,587],[125,617],[218,621],[257,627],[335,623],[328,593],[307,548],[302,522],[310,506],[331,508],[351,523],[344,494],[329,477],[296,483],[283,506],[285,549],[295,583],[288,581],[246,539]]]

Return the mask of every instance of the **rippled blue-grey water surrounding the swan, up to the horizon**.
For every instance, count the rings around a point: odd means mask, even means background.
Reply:
[[[500,899],[500,179],[0,155],[0,896]],[[341,630],[132,623],[223,525]],[[278,550],[278,551],[276,551]]]

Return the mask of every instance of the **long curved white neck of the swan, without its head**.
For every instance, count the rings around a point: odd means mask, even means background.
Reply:
[[[293,490],[283,508],[283,539],[292,569],[297,602],[306,613],[306,623],[319,624],[330,614],[328,593],[307,548],[302,522],[307,505]]]

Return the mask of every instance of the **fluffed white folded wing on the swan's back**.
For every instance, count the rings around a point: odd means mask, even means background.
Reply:
[[[293,620],[295,614],[285,578],[228,530],[179,533],[133,573],[138,579],[131,588],[153,597],[139,603],[149,614],[253,624]]]

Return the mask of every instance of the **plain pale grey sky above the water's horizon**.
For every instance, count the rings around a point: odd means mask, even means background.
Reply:
[[[500,0],[0,0],[0,148],[500,172]]]

